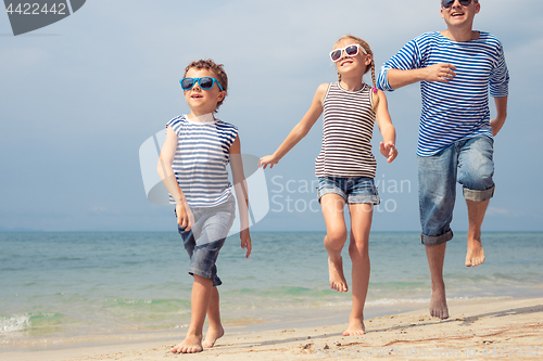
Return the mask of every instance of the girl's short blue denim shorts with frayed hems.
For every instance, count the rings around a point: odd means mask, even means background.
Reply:
[[[323,195],[333,193],[341,195],[348,204],[369,203],[379,204],[379,195],[374,179],[367,177],[358,178],[318,178],[318,202]]]

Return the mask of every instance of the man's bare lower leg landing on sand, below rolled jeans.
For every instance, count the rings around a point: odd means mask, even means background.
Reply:
[[[430,298],[430,314],[434,318],[449,319],[446,306],[445,283],[443,282],[443,262],[445,260],[446,243],[437,246],[426,246],[428,266],[432,280],[432,297]]]

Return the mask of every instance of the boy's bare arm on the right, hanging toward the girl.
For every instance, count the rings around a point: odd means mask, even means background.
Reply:
[[[247,188],[245,175],[243,173],[243,163],[241,162],[241,142],[236,137],[228,151],[230,153],[230,169],[232,170],[233,191],[238,199],[240,217],[241,248],[245,248],[245,258],[251,255],[251,235],[249,234],[249,192]]]

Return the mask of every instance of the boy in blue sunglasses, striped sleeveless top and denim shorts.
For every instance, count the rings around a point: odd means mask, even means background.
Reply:
[[[214,117],[227,93],[223,65],[211,60],[192,62],[185,69],[181,88],[189,115],[169,120],[157,172],[175,203],[178,231],[190,256],[193,275],[191,319],[186,338],[174,353],[201,352],[224,335],[215,266],[218,252],[233,223],[236,204],[226,166],[230,163],[240,214],[241,247],[251,254],[248,190],[241,163],[238,129]],[[202,341],[202,331],[209,328]]]

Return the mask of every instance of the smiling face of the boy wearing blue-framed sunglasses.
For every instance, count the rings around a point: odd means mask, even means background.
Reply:
[[[214,72],[207,69],[198,69],[195,67],[191,67],[187,74],[186,78],[203,78],[211,77],[217,78]],[[213,85],[213,88],[209,90],[203,90],[200,88],[200,83],[195,82],[194,86],[184,91],[185,100],[187,104],[189,104],[190,111],[194,116],[201,116],[209,113],[214,113],[217,106],[217,103],[220,102],[226,92],[222,91],[216,83]]]

